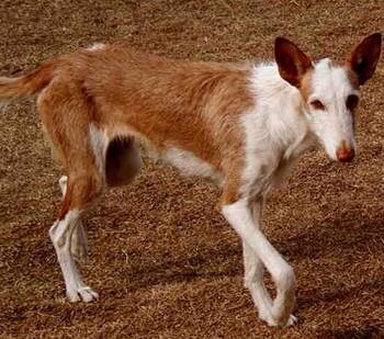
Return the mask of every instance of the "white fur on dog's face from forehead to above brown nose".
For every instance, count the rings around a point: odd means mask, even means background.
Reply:
[[[353,115],[347,108],[349,95],[359,97],[359,91],[352,87],[346,67],[335,67],[329,59],[315,65],[307,99],[308,118],[313,132],[334,160],[338,159],[338,149],[355,148]]]

